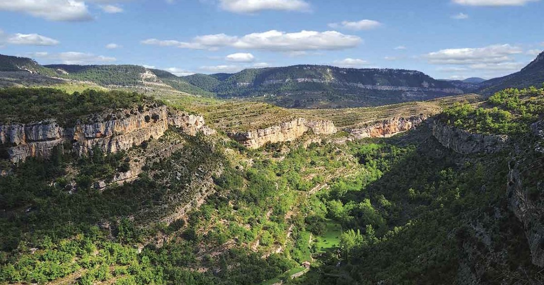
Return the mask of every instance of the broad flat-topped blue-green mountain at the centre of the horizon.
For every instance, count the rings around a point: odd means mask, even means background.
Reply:
[[[465,93],[452,83],[404,69],[297,65],[184,79],[221,98],[262,96],[267,102],[295,108],[384,105]]]

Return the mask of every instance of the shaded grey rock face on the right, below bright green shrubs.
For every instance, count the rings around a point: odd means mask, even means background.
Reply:
[[[438,121],[432,125],[432,135],[444,147],[461,154],[494,153],[504,149],[508,143],[506,135],[473,134]]]

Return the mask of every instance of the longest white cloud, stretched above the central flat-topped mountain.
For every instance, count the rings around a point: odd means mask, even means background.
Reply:
[[[144,45],[170,46],[190,49],[218,49],[234,47],[240,49],[261,49],[273,52],[299,52],[304,50],[339,50],[353,48],[362,39],[358,36],[344,35],[337,31],[306,31],[286,33],[270,30],[264,33],[252,33],[242,37],[225,34],[197,36],[190,42],[175,40],[148,39]]]

